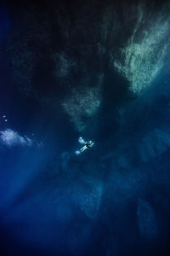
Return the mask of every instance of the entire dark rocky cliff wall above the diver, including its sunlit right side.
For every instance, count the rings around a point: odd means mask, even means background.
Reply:
[[[124,98],[142,93],[163,67],[166,3],[159,9],[123,1],[18,6],[9,5],[13,25],[7,40],[14,84],[28,96],[58,104],[78,131],[92,127],[90,120],[95,123],[105,105],[118,118],[115,109]]]

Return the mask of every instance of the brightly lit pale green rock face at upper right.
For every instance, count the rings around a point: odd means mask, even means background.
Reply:
[[[150,14],[139,3],[138,20],[131,38],[122,49],[122,61],[114,61],[114,66],[130,83],[130,89],[139,94],[147,88],[163,67],[169,47],[170,26],[169,6],[164,6],[157,17],[150,21]]]

